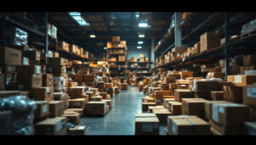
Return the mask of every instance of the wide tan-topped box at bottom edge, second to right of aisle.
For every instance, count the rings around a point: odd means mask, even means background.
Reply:
[[[210,135],[210,125],[196,116],[169,116],[169,135]]]

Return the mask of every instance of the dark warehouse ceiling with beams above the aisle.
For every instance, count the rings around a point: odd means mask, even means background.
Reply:
[[[150,47],[151,39],[154,38],[155,42],[158,42],[170,27],[173,13],[80,12],[80,14],[90,25],[79,25],[68,12],[49,13],[49,23],[58,28],[58,37],[73,40],[81,47],[95,50],[106,47],[107,42],[111,41],[111,36],[120,36],[121,41],[126,41],[128,49],[129,46],[137,45],[138,41],[143,41],[142,46]],[[145,21],[150,27],[138,26]],[[96,37],[91,38],[92,34]],[[139,34],[145,37],[139,38]]]

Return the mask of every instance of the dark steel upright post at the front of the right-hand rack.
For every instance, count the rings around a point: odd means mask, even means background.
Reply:
[[[229,40],[230,40],[230,14],[225,14],[225,79],[227,80],[227,75],[230,74],[230,47],[228,46]]]

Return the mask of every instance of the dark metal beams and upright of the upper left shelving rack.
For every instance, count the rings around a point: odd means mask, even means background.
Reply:
[[[16,27],[19,27],[28,33],[31,33],[32,35],[38,36],[42,39],[44,39],[44,42],[28,42],[29,45],[36,46],[39,49],[44,49],[45,53],[48,53],[48,50],[57,52],[60,54],[61,57],[65,59],[73,59],[73,60],[80,60],[82,62],[84,61],[89,61],[89,59],[84,59],[82,57],[79,57],[76,54],[66,52],[64,50],[61,50],[57,48],[57,42],[58,40],[55,38],[52,38],[51,36],[48,36],[48,13],[43,13],[42,14],[43,19],[44,19],[44,32],[43,31],[38,31],[37,29],[32,28],[32,26],[25,24],[26,22],[21,22],[20,20],[15,20],[13,18],[10,18],[7,14],[2,13],[0,14],[0,20],[1,20],[1,29],[4,29],[6,24],[9,25],[14,25]],[[55,47],[49,47],[50,43],[54,43]],[[42,58],[45,60],[45,58]]]

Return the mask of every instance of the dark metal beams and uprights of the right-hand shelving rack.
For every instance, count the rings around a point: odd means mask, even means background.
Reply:
[[[174,14],[175,15],[175,14]],[[241,25],[246,24],[250,20],[256,18],[255,13],[194,13],[189,16],[187,20],[184,20],[181,25],[175,25],[181,29],[182,38],[178,40],[183,44],[193,47],[195,42],[200,41],[200,36],[206,31],[221,31],[221,36],[225,37],[225,44],[219,47],[212,48],[205,53],[198,53],[190,56],[186,59],[177,60],[175,58],[174,62],[163,64],[158,68],[166,68],[167,70],[177,70],[177,66],[188,66],[195,63],[206,63],[212,61],[213,59],[225,59],[225,77],[230,74],[229,58],[241,53],[256,53],[252,48],[256,46],[256,35],[250,35],[243,39],[237,39],[230,42],[230,36],[237,35],[240,36]],[[180,19],[180,18],[177,18]],[[154,53],[156,58],[160,54],[166,54],[175,47],[175,31],[174,36],[169,37],[167,41],[173,42],[169,47],[166,44],[161,43],[159,49]],[[174,39],[174,40],[173,40]],[[245,46],[245,47],[244,47]],[[243,48],[241,48],[243,47]],[[202,73],[205,74],[205,73]]]

